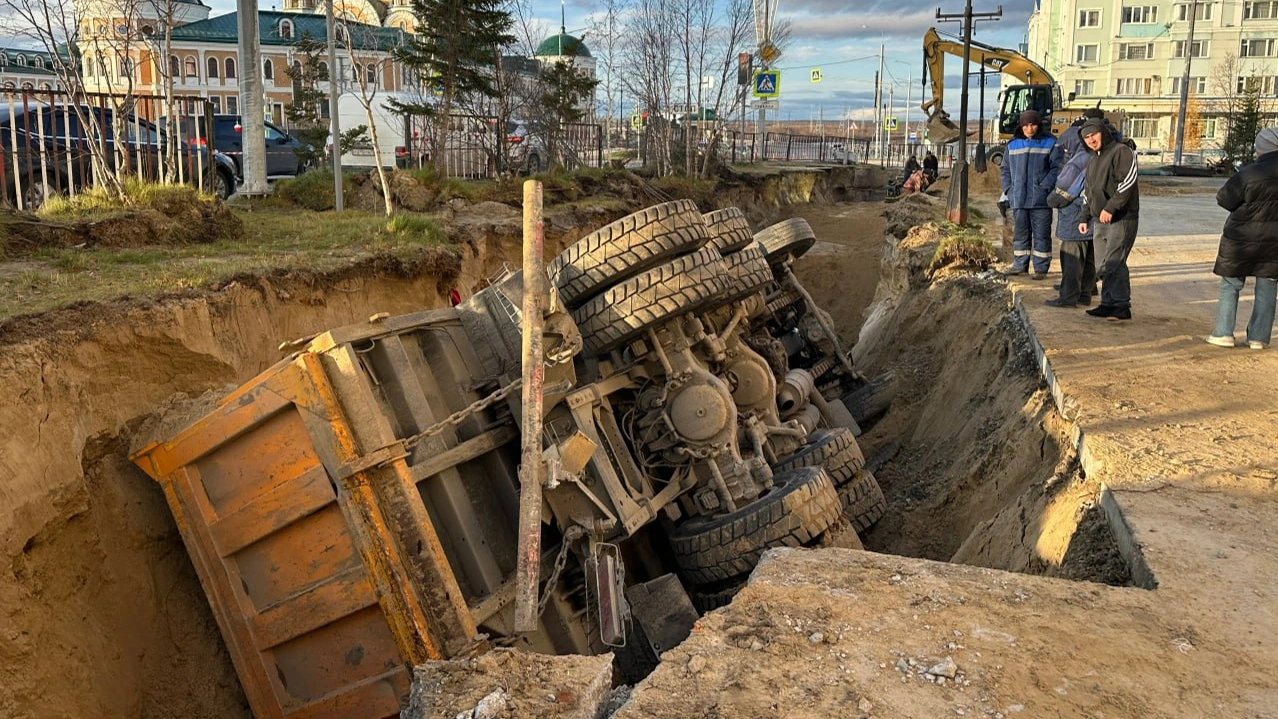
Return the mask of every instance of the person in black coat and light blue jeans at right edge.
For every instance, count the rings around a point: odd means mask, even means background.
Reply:
[[[1256,162],[1238,171],[1215,194],[1229,211],[1220,234],[1220,249],[1212,272],[1220,276],[1220,303],[1215,308],[1212,345],[1232,347],[1238,292],[1255,277],[1255,301],[1247,322],[1247,346],[1269,346],[1278,298],[1278,128],[1256,134]]]

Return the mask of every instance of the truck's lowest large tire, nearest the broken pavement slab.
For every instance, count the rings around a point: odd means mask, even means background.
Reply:
[[[801,547],[838,521],[842,510],[829,475],[799,467],[772,478],[772,489],[735,512],[691,517],[670,534],[684,577],[712,584],[748,573],[772,547]]]

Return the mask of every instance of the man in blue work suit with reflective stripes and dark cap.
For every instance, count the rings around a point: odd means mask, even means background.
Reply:
[[[1021,112],[1016,137],[1007,143],[999,169],[1015,221],[1012,269],[1007,275],[1029,272],[1033,261],[1033,277],[1042,280],[1052,267],[1052,208],[1047,195],[1061,170],[1061,156],[1054,148],[1056,138],[1040,124],[1039,114]]]

